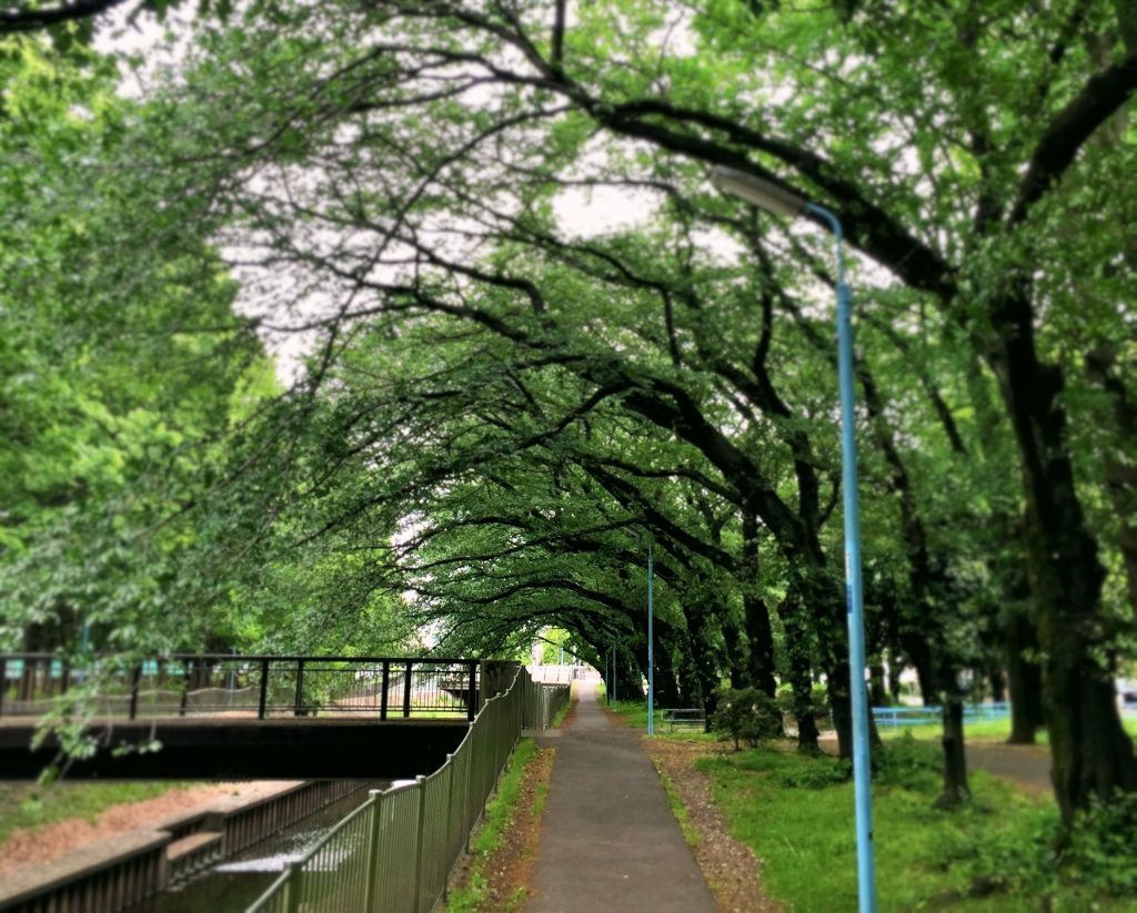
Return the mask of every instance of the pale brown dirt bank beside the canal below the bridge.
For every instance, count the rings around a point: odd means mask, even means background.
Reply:
[[[177,814],[208,809],[219,799],[236,796],[255,798],[279,791],[289,785],[294,784],[266,780],[173,787],[168,793],[153,798],[111,805],[94,821],[72,818],[42,824],[34,830],[17,828],[0,844],[0,877],[25,865],[51,862],[98,840],[106,840],[138,828],[160,824]]]

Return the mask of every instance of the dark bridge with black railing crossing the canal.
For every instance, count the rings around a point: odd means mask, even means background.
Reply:
[[[0,656],[0,779],[401,779],[437,770],[516,663],[448,657],[175,655],[83,664]],[[44,714],[86,719],[65,760]],[[160,749],[156,749],[160,746]]]

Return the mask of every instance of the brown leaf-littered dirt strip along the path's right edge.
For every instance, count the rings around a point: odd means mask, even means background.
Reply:
[[[703,877],[723,913],[777,913],[782,906],[762,893],[762,861],[730,836],[727,820],[714,803],[711,778],[696,770],[700,757],[721,754],[722,746],[707,742],[644,739],[655,769],[666,777],[687,809],[688,823],[697,835],[692,847]]]

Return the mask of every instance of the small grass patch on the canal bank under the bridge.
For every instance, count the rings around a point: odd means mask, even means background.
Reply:
[[[72,784],[0,786],[0,844],[17,828],[35,830],[74,818],[94,821],[111,805],[160,796],[186,784]]]

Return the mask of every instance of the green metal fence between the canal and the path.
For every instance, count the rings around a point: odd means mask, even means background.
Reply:
[[[567,686],[543,687],[518,668],[441,768],[373,791],[247,913],[428,913],[445,894],[521,730],[547,728],[567,701]]]

